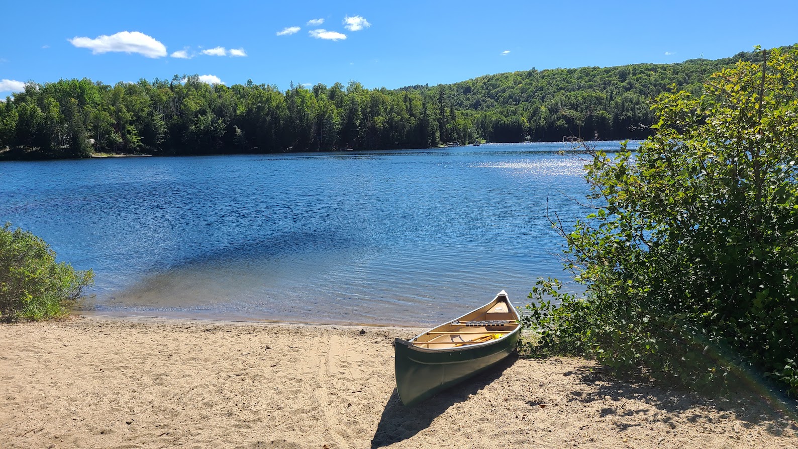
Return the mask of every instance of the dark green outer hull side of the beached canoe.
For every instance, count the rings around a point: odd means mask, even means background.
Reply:
[[[395,370],[399,399],[408,407],[420,403],[499,363],[516,350],[519,329],[491,344],[472,348],[429,350],[398,339]]]

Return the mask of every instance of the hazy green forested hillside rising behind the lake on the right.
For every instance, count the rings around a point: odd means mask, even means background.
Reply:
[[[732,58],[690,59],[676,64],[527,70],[487,75],[449,85],[415,85],[402,90],[433,93],[495,142],[640,139],[652,135],[650,100],[673,85],[701,93],[709,75],[752,62],[741,52]]]

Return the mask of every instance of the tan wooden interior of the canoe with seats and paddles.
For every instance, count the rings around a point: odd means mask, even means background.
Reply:
[[[491,303],[450,323],[430,329],[411,343],[417,348],[446,349],[504,338],[519,326],[517,315],[510,310],[506,298],[496,296],[496,300]]]

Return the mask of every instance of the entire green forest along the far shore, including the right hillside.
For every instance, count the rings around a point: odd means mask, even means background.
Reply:
[[[0,157],[188,155],[429,148],[452,141],[645,138],[650,100],[700,93],[709,74],[752,53],[675,64],[526,70],[448,85],[365,89],[209,85],[196,75],[107,85],[37,84],[0,101]]]

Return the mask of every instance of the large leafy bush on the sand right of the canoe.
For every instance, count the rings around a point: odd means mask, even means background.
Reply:
[[[555,221],[585,293],[539,280],[537,351],[696,389],[753,370],[798,394],[798,47],[760,55],[701,97],[658,97],[638,150],[593,153],[601,207],[572,232]]]

